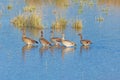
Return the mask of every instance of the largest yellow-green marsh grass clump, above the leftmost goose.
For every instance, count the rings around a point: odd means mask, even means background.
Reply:
[[[41,17],[39,17],[36,13],[32,13],[30,16],[19,15],[11,20],[11,22],[17,28],[37,28],[42,29],[43,25],[41,24]]]

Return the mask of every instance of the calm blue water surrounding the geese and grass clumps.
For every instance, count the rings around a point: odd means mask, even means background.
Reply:
[[[112,0],[111,0],[112,1]],[[22,13],[26,5],[24,1],[1,0],[3,14],[0,17],[0,79],[1,80],[119,80],[120,79],[120,9],[119,5],[111,4],[108,14],[101,11],[107,4],[85,6],[78,14],[79,5],[71,4],[67,9],[60,9],[60,15],[69,21],[64,31],[65,39],[74,41],[76,48],[51,47],[43,48],[41,44],[33,48],[22,42],[22,32],[14,27],[10,20]],[[18,5],[19,3],[19,5]],[[103,2],[104,3],[104,2]],[[13,5],[7,10],[8,4]],[[14,7],[15,6],[15,7]],[[50,40],[50,27],[55,21],[52,5],[43,5],[44,37]],[[59,11],[59,10],[58,10]],[[97,17],[104,17],[98,22]],[[83,47],[78,33],[72,28],[71,20],[82,20],[84,39],[93,44]],[[61,37],[60,32],[55,32]],[[39,40],[31,32],[27,36]]]

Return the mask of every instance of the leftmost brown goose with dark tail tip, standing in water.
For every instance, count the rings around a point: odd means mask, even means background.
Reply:
[[[38,44],[38,42],[36,40],[33,40],[32,38],[28,38],[26,37],[25,31],[24,29],[22,29],[22,40],[24,43],[26,43],[27,45],[33,45],[33,44]]]

